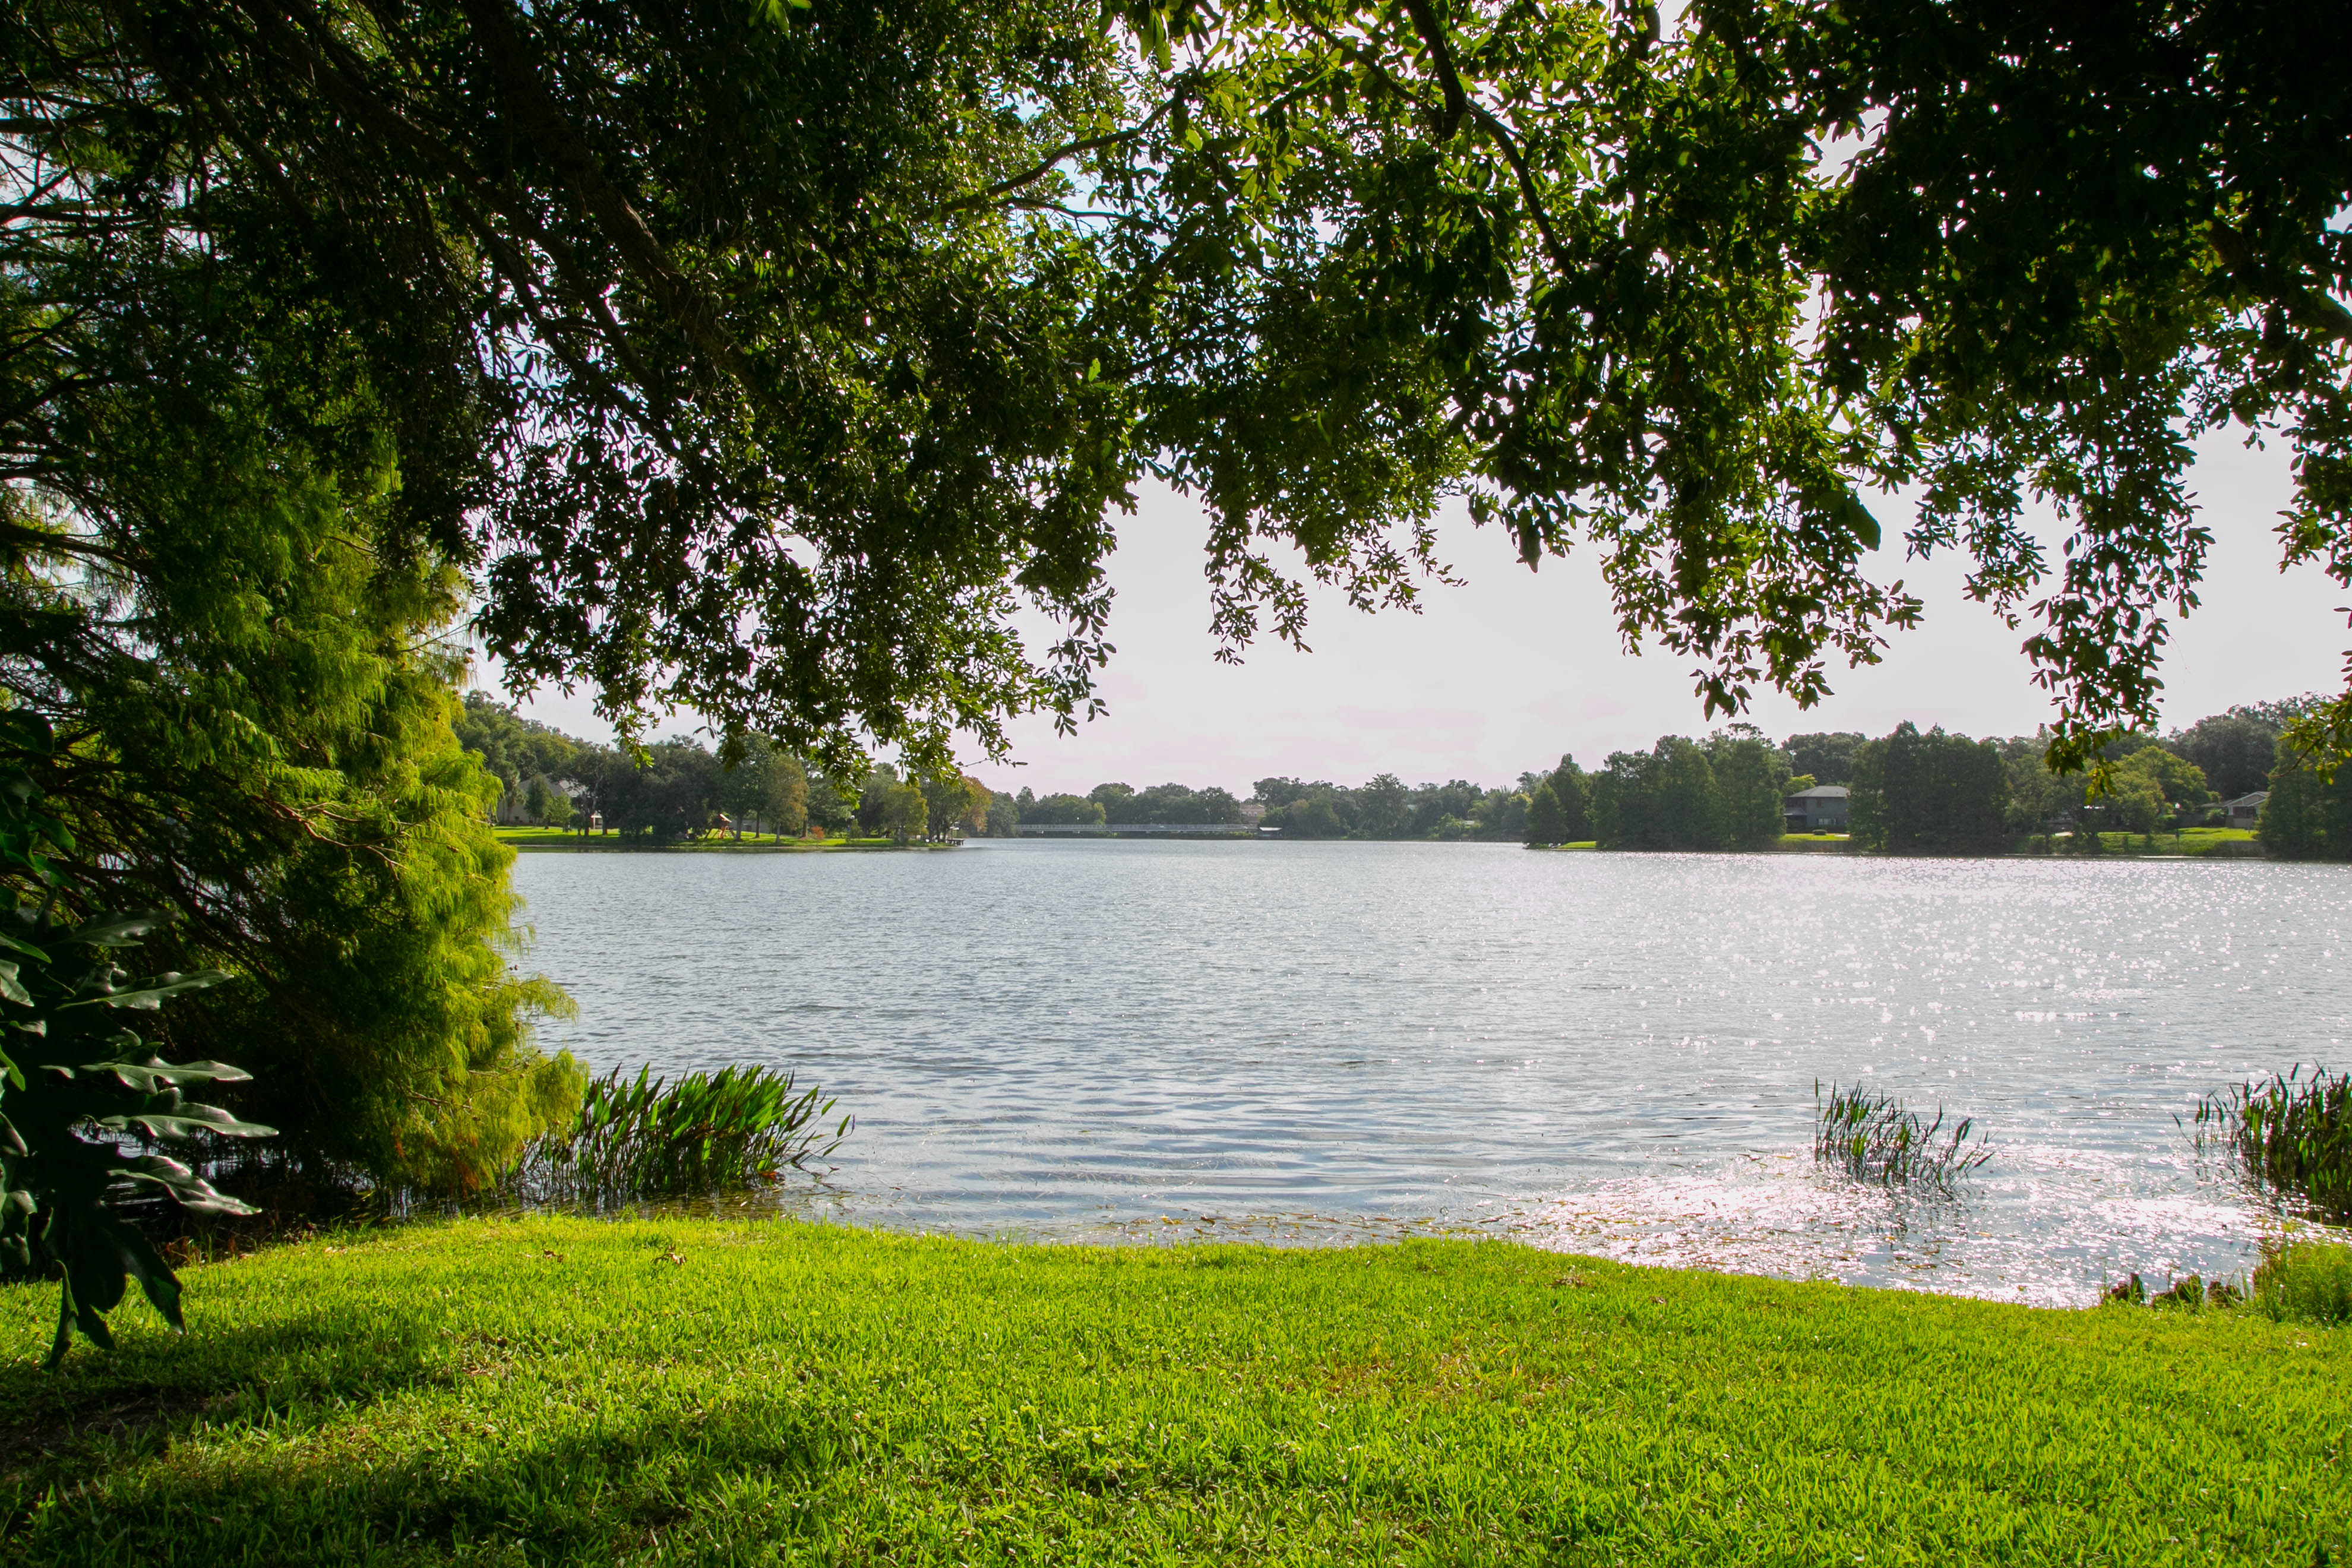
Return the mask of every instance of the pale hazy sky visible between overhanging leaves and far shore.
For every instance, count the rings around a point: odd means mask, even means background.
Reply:
[[[2272,529],[2288,501],[2284,454],[2213,437],[2199,449],[2192,489],[2216,541],[2204,604],[2173,625],[2164,724],[2340,689],[2352,632],[2333,607],[2352,595],[2317,567],[2279,571]],[[1889,548],[1870,571],[1877,581],[1900,576],[1926,602],[1922,625],[1893,632],[1879,665],[1832,665],[1832,696],[1811,712],[1764,693],[1748,719],[1776,738],[1816,729],[1877,736],[1903,719],[1971,736],[2032,733],[2051,703],[2018,649],[2030,625],[2011,630],[1969,602],[1957,557],[1903,559],[1907,508],[1898,498],[1879,498],[1872,510]],[[1049,719],[1023,719],[1011,726],[1007,762],[967,757],[969,771],[990,788],[1037,795],[1183,783],[1247,797],[1254,780],[1275,773],[1345,785],[1374,773],[1494,785],[1550,769],[1564,752],[1590,769],[1609,752],[1712,726],[1691,689],[1691,661],[1658,646],[1623,651],[1590,552],[1529,571],[1508,536],[1454,512],[1439,527],[1439,557],[1465,578],[1461,588],[1430,585],[1421,614],[1371,616],[1324,592],[1308,623],[1310,651],[1268,639],[1242,665],[1218,665],[1204,538],[1192,503],[1145,491],[1136,515],[1120,520],[1108,567],[1117,592],[1117,654],[1101,675],[1108,717],[1070,738],[1056,736]],[[2049,524],[2053,559],[2056,538]],[[541,693],[524,712],[609,738],[586,696]],[[691,726],[691,715],[680,715],[659,733]]]

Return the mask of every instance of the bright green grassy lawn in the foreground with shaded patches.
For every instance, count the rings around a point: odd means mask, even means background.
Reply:
[[[1503,1244],[456,1220],[188,1269],[33,1361],[7,1563],[2291,1563],[2345,1331]],[[2338,1554],[2338,1556],[2326,1556]]]

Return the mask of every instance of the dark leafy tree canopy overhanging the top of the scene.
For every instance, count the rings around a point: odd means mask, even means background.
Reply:
[[[2032,618],[2084,762],[2194,604],[2190,437],[2274,430],[2286,555],[2352,581],[2347,28],[35,0],[0,96],[52,292],[12,362],[68,428],[141,256],[252,303],[198,331],[223,353],[299,322],[299,386],[369,388],[383,548],[468,571],[513,679],[630,733],[684,703],[943,773],[957,731],[1082,715],[1145,477],[1211,512],[1228,646],[1303,635],[1298,576],[1409,602],[1465,496],[1529,564],[1595,548],[1712,712],[1811,701],[1917,618],[1860,498],[1915,487],[1907,545]]]

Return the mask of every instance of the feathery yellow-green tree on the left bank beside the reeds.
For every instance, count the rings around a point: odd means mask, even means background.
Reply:
[[[475,1185],[579,1074],[532,1048],[562,997],[501,950],[499,785],[452,731],[466,581],[407,520],[447,473],[376,350],[430,322],[266,226],[219,254],[240,195],[153,78],[49,49],[61,19],[0,16],[0,705],[59,738],[0,745],[73,827],[66,907],[176,910],[158,961],[235,976],[162,1044],[254,1074],[270,1161]]]

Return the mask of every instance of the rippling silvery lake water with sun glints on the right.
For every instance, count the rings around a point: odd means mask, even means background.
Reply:
[[[2199,1093],[2338,1063],[2352,872],[2197,860],[974,842],[529,853],[597,1070],[788,1065],[797,1204],[1033,1239],[1508,1234],[2091,1300],[2244,1272]],[[1813,1084],[1976,1117],[1952,1204],[1816,1171]]]

